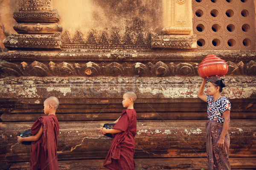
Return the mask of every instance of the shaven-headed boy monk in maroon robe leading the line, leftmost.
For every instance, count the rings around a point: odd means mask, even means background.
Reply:
[[[59,101],[49,97],[44,101],[44,114],[31,127],[29,137],[18,137],[18,142],[32,141],[30,150],[30,170],[58,170],[57,146],[59,124],[55,116]]]

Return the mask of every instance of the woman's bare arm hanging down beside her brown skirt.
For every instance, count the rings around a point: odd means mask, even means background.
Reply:
[[[230,110],[226,110],[222,114],[224,116],[224,123],[221,131],[221,136],[217,142],[217,147],[224,147],[224,139],[230,123]]]

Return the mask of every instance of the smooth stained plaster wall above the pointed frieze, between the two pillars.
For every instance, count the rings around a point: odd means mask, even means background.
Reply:
[[[161,30],[162,9],[159,0],[54,0],[58,9],[59,24],[73,37],[76,31],[84,36],[113,31],[121,35],[125,31]]]

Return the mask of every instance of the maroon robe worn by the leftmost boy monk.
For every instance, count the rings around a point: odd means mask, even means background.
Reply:
[[[31,127],[32,136],[38,133],[41,125],[43,125],[43,137],[31,144],[30,170],[58,170],[57,146],[60,128],[58,119],[53,114],[41,116]]]

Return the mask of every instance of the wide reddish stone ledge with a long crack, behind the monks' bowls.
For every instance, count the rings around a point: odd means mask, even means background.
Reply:
[[[58,116],[58,115],[57,115]],[[135,155],[138,158],[205,157],[205,126],[202,121],[138,121]],[[28,161],[29,146],[16,141],[17,133],[30,128],[33,122],[0,123],[1,160]],[[101,136],[98,128],[106,122],[60,122],[58,160],[104,159],[111,139]],[[256,156],[255,120],[231,120],[230,157]]]

